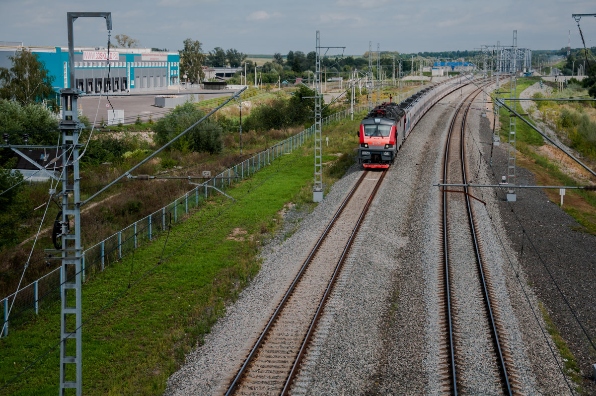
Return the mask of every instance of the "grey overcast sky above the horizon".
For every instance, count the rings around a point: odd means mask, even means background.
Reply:
[[[67,11],[110,11],[114,36],[141,46],[176,51],[186,38],[203,50],[216,46],[245,54],[273,54],[345,46],[346,55],[368,51],[455,51],[480,45],[531,49],[580,47],[572,14],[596,13],[594,0],[0,0],[0,40],[31,46],[67,46]],[[586,46],[596,46],[596,17],[583,17]],[[115,41],[115,40],[114,40]],[[76,46],[105,46],[103,18],[75,21]]]

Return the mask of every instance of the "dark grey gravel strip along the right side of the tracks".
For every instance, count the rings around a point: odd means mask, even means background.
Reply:
[[[489,153],[485,151],[485,155]],[[500,175],[507,172],[507,145],[495,147],[493,157],[496,178],[500,179]],[[534,174],[529,170],[518,166],[516,174],[519,183],[535,184]],[[551,202],[540,189],[518,189],[516,202],[505,201],[502,191],[495,191],[491,195],[495,208],[491,213],[501,217],[500,223],[504,233],[508,235],[507,251],[512,261],[511,266],[527,274],[524,286],[531,285],[526,289],[532,289],[536,298],[547,308],[558,332],[577,358],[586,393],[596,395],[596,386],[590,379],[591,365],[596,363],[596,355],[548,274],[552,274],[570,306],[578,314],[583,327],[592,340],[596,341],[596,259],[593,252],[596,237],[576,231],[582,229],[580,224]],[[541,316],[537,304],[533,304],[533,307],[538,316]],[[544,358],[553,361],[552,355],[548,357],[548,353]],[[541,364],[534,366],[536,373],[541,372],[540,366]],[[549,394],[547,391],[544,393]]]

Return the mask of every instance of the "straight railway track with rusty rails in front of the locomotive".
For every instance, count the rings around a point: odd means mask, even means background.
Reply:
[[[364,172],[246,357],[220,388],[228,395],[285,395],[308,347],[319,314],[386,172]]]

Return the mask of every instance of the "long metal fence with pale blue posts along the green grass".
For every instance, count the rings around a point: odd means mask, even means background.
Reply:
[[[399,95],[399,101],[413,95],[423,87],[413,89],[411,91],[402,93]],[[359,105],[354,108],[354,114],[361,111],[368,110],[370,105]],[[328,117],[322,119],[322,125],[330,124],[334,121],[340,121],[350,117],[350,109],[340,111],[339,113],[331,114]],[[299,148],[309,138],[312,137],[315,126],[312,125],[308,129],[303,130],[296,135],[290,136],[278,144],[269,147],[247,160],[230,167],[224,172],[217,174],[212,179],[207,180],[201,185],[197,185],[195,188],[188,191],[175,201],[164,206],[160,210],[138,220],[128,227],[123,228],[119,232],[108,236],[103,241],[83,250],[81,260],[81,271],[82,281],[91,279],[98,272],[101,272],[105,267],[119,260],[138,248],[141,244],[146,241],[150,241],[160,233],[167,229],[170,222],[170,216],[172,223],[178,222],[185,214],[188,214],[190,210],[197,207],[200,202],[205,201],[211,195],[214,194],[216,187],[222,191],[228,189],[232,183],[236,183],[238,180],[242,180],[245,177],[251,176],[253,173],[258,172],[262,167],[267,164],[271,164],[280,155],[291,153],[294,149]],[[234,179],[236,177],[236,179]],[[0,312],[4,321],[2,327],[4,332],[0,333],[2,336],[8,335],[9,325],[11,328],[18,328],[39,313],[39,310],[49,306],[58,300],[60,300],[60,279],[61,279],[61,267],[49,272],[48,274],[40,277],[35,282],[30,283],[27,286],[19,289],[11,295],[0,300]],[[67,278],[75,276],[75,273],[67,274]],[[67,282],[73,280],[67,279]],[[83,283],[84,284],[84,283]],[[14,300],[14,304],[13,304]],[[8,320],[8,309],[13,304],[13,308],[10,314],[10,321]],[[6,326],[4,326],[6,324]]]

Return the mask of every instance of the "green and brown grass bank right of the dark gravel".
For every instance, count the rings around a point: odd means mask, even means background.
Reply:
[[[535,83],[534,80],[518,80],[517,97],[520,93]],[[501,91],[509,91],[510,83],[501,85]],[[509,93],[502,93],[501,97],[507,98]],[[516,111],[523,114],[522,105],[516,102]],[[507,142],[509,113],[505,108],[499,111],[499,121],[501,122],[501,141]],[[536,175],[536,183],[541,185],[563,185],[563,186],[581,186],[573,177],[564,173],[558,164],[554,163],[538,151],[539,146],[544,145],[542,136],[533,130],[523,121],[517,120],[516,123],[516,148],[522,154],[516,161],[520,166],[529,169]],[[545,189],[548,198],[557,204],[560,204],[560,196],[556,189]],[[567,190],[563,210],[573,216],[581,227],[576,229],[581,232],[588,232],[596,235],[596,195],[594,192],[583,190]]]

